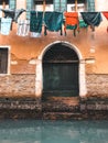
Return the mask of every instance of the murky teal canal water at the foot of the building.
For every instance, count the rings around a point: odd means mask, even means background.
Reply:
[[[0,143],[108,143],[108,121],[0,121]]]

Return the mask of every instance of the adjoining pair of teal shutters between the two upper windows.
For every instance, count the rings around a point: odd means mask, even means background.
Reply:
[[[54,0],[54,11],[64,12],[67,10],[67,0]]]

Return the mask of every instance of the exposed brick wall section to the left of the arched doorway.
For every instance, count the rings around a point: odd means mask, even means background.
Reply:
[[[0,96],[34,96],[35,75],[0,76]]]

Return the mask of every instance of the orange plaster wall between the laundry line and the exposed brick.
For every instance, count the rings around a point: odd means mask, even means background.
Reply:
[[[24,1],[23,1],[24,2]],[[99,9],[96,6],[97,10]],[[41,38],[30,36],[21,37],[17,35],[17,24],[10,35],[0,35],[0,46],[11,46],[11,62],[17,61],[17,65],[11,65],[11,74],[35,74],[35,64],[31,65],[31,59],[36,59],[41,52],[55,41],[65,41],[75,45],[82,53],[83,58],[95,58],[95,64],[86,64],[86,73],[88,74],[108,74],[108,33],[106,31],[108,21],[102,16],[101,24],[96,28],[94,33],[95,40],[91,40],[91,30],[80,30],[76,37],[72,31],[67,35],[60,33],[50,33],[44,36],[42,32]],[[95,53],[90,53],[90,48],[95,47]]]

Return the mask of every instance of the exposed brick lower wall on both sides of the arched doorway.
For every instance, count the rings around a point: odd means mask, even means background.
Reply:
[[[108,75],[86,75],[87,96],[108,97]],[[35,75],[0,76],[0,96],[35,96]]]

